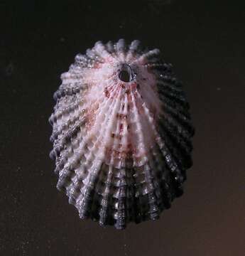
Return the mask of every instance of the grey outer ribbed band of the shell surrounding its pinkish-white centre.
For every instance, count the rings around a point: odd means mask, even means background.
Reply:
[[[55,159],[57,188],[66,193],[80,218],[91,218],[100,225],[123,229],[130,222],[158,219],[164,209],[170,208],[173,199],[183,194],[186,170],[192,166],[194,128],[183,85],[175,77],[172,65],[160,58],[159,50],[148,51],[139,41],[126,44],[123,39],[116,43],[98,42],[96,46],[98,44],[111,55],[123,52],[145,56],[144,65],[156,78],[158,97],[164,110],[156,122],[163,144],[153,143],[143,166],[134,166],[129,156],[124,168],[117,169],[100,162],[98,168],[91,171],[89,165],[94,156],[89,154],[89,145],[86,154],[72,158],[87,122],[83,115],[85,110],[78,111],[83,93],[89,86],[80,80],[83,68],[93,69],[96,63],[103,62],[99,52],[92,48],[85,55],[76,56],[75,63],[70,66],[69,78],[62,75],[62,84],[54,94],[56,105],[49,119],[53,126],[50,157]],[[85,162],[87,164],[83,164]]]

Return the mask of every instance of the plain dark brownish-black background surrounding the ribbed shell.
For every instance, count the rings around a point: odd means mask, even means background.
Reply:
[[[0,3],[0,255],[244,255],[244,4]],[[119,38],[163,51],[196,128],[184,195],[123,231],[80,220],[48,156],[60,74],[96,41]]]

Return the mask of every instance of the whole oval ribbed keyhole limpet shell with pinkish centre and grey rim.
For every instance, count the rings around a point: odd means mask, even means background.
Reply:
[[[49,121],[57,188],[80,218],[156,220],[192,165],[189,105],[158,49],[97,42],[61,75]]]

